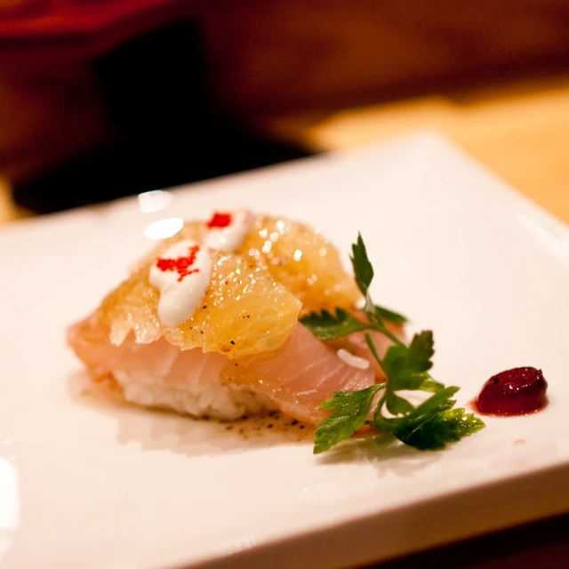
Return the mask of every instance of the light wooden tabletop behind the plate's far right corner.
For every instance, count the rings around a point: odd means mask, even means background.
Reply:
[[[569,223],[569,74],[449,90],[332,116],[288,116],[268,121],[268,128],[317,150],[349,150],[436,129]]]

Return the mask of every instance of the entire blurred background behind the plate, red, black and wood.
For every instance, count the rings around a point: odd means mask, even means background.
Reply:
[[[0,0],[6,215],[433,127],[569,220],[568,28],[569,0]]]

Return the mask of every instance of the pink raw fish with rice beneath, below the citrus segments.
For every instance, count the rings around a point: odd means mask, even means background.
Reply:
[[[237,361],[201,349],[180,350],[164,338],[137,344],[132,334],[116,346],[96,317],[71,327],[68,343],[95,379],[112,376],[127,400],[197,416],[236,419],[278,408],[316,424],[325,417],[319,405],[333,391],[375,382],[371,367],[344,363],[300,324],[280,349]]]

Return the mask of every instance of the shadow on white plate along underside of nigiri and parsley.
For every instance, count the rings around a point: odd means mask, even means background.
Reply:
[[[122,397],[111,382],[92,383],[84,371],[73,373],[68,389],[76,403],[116,420],[121,445],[140,445],[145,451],[168,450],[188,456],[242,453],[275,445],[303,445],[312,453],[314,427],[280,412],[238,421],[196,419],[168,410],[142,408]],[[389,471],[412,476],[440,459],[441,453],[419,451],[386,435],[362,435],[315,457],[315,464],[372,464],[379,476]]]

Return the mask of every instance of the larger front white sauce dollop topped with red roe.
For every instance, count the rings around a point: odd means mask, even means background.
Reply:
[[[158,257],[148,274],[148,282],[160,291],[158,317],[166,326],[178,326],[204,300],[212,279],[212,257],[207,247],[191,239],[173,244]]]

